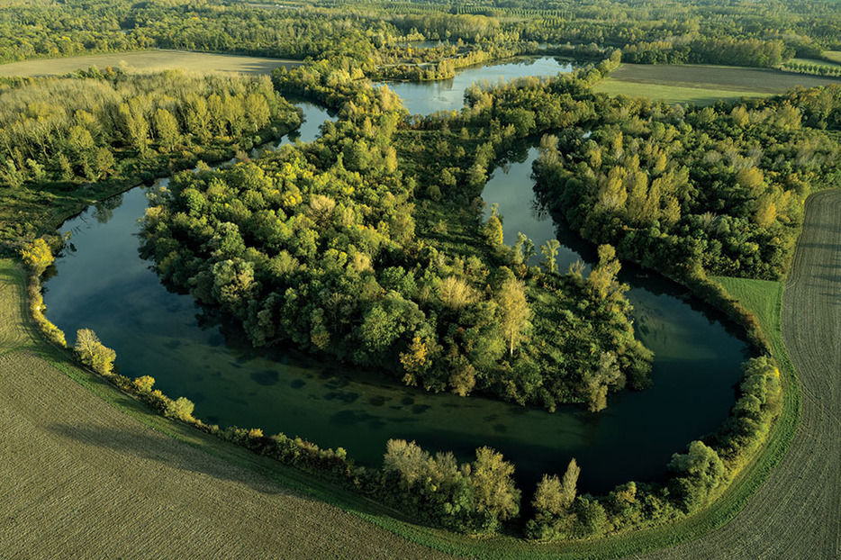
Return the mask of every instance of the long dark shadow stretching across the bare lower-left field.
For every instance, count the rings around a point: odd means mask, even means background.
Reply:
[[[307,501],[312,500],[308,496],[273,483],[263,476],[210,456],[202,450],[187,447],[175,439],[154,433],[145,434],[143,433],[145,430],[62,423],[50,424],[48,429],[61,438],[75,440],[86,446],[113,449],[118,453],[118,456],[113,457],[113,468],[119,468],[120,463],[127,463],[150,473],[158,470],[156,465],[139,465],[137,457],[140,457],[153,464],[166,465],[180,471],[205,474],[220,480],[245,484],[264,494],[288,495]],[[245,450],[243,452],[248,453]],[[99,460],[102,460],[102,457]]]

